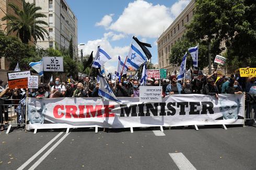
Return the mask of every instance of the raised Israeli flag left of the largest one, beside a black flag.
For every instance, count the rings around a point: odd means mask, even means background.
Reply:
[[[94,63],[92,64],[92,67],[100,68],[104,65],[108,60],[112,59],[104,50],[102,50],[100,47],[98,47],[98,51],[95,56]]]

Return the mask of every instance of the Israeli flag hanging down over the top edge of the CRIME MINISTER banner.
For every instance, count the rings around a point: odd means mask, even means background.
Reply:
[[[100,81],[99,92],[98,92],[99,96],[101,96],[103,99],[106,99],[106,100],[112,100],[112,101],[115,101],[115,102],[122,103],[114,95],[114,93],[111,90],[107,80],[104,79],[104,77],[101,74],[99,74],[99,81]]]

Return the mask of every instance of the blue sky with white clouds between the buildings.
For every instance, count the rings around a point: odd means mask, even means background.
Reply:
[[[117,69],[118,56],[125,60],[132,37],[152,45],[152,63],[157,63],[157,38],[187,6],[190,0],[66,0],[78,20],[78,44],[84,43],[84,55],[97,46],[112,59],[105,69]],[[136,45],[136,42],[133,41]],[[138,47],[139,48],[139,47]],[[140,48],[139,48],[140,49]]]

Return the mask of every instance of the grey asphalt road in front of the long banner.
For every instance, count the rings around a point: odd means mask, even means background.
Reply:
[[[227,127],[164,128],[164,133],[159,128],[3,131],[0,169],[185,169],[190,164],[194,169],[255,170],[256,128]],[[170,153],[184,158],[175,162]]]

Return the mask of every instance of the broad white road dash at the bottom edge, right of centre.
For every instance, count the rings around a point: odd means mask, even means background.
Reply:
[[[181,152],[169,153],[169,155],[180,170],[196,170],[196,168],[189,162],[187,157],[185,157]]]

